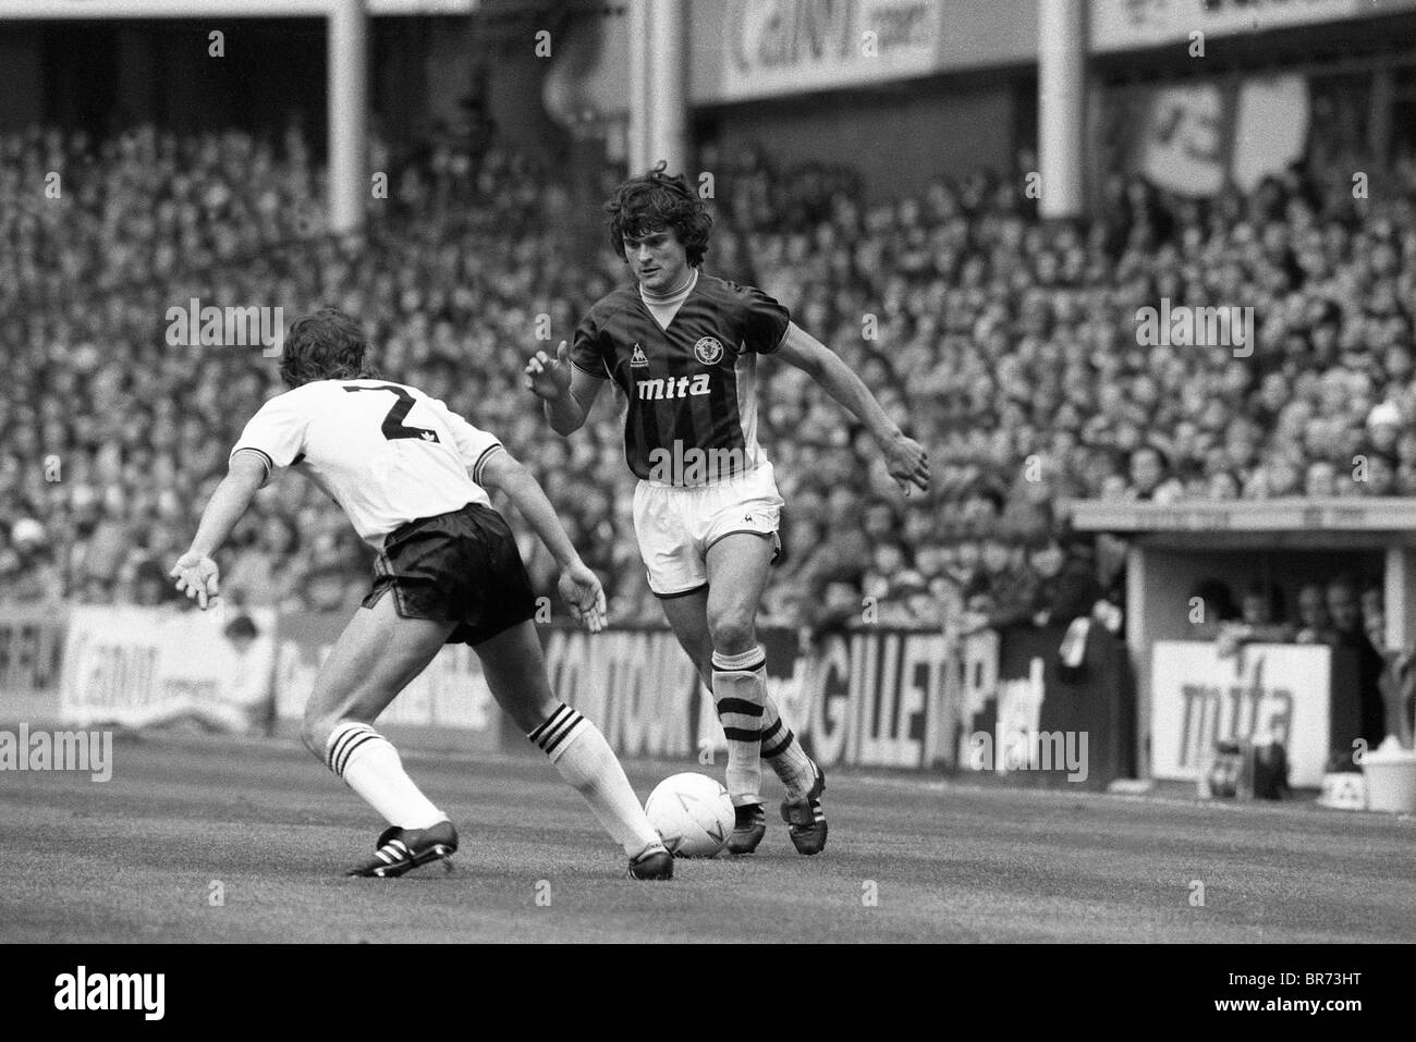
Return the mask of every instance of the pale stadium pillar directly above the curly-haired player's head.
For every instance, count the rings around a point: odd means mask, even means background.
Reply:
[[[630,0],[629,34],[630,171],[667,160],[677,174],[688,161],[683,0]]]

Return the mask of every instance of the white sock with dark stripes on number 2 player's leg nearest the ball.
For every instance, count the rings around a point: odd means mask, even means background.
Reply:
[[[649,824],[639,797],[630,789],[610,743],[590,721],[565,702],[527,738],[551,757],[575,791],[585,797],[605,831],[632,858],[650,847],[663,847],[658,832]]]

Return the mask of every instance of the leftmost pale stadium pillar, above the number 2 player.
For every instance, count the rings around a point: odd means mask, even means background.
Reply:
[[[364,231],[368,161],[368,13],[333,0],[329,17],[330,231]]]

